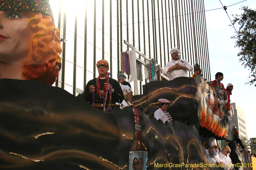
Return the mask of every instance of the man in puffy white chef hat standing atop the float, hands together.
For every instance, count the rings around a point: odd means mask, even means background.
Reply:
[[[193,66],[184,59],[180,59],[181,51],[174,47],[170,51],[172,61],[164,67],[163,74],[169,75],[169,80],[177,77],[188,77],[188,71],[193,70]]]

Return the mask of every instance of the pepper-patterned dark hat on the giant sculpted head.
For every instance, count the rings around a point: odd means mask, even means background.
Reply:
[[[47,0],[0,0],[0,11],[40,12],[52,17],[52,8]]]

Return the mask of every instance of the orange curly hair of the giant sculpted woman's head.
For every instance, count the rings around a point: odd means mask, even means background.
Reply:
[[[52,85],[61,69],[60,31],[51,17],[41,13],[30,18],[28,24],[34,35],[31,40],[32,50],[23,63],[22,74],[27,80]]]

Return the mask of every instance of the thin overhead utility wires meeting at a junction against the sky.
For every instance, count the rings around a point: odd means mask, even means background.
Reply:
[[[244,1],[247,1],[247,0],[244,0]],[[244,1],[238,2],[238,3],[236,3],[236,4],[242,3],[242,2],[244,2]],[[221,3],[221,1],[220,1],[220,3]],[[222,5],[222,3],[221,3],[221,5]],[[235,5],[235,4],[232,4],[232,5]],[[232,5],[229,5],[229,6],[232,6]],[[227,6],[227,7],[229,7],[229,6]],[[226,7],[226,6],[225,6],[225,7]],[[222,5],[222,8],[226,11],[226,9],[224,8],[223,5]],[[206,10],[206,11],[219,10],[219,9],[222,9],[222,8],[216,8],[216,9]],[[206,12],[206,11],[199,11],[199,12]],[[196,14],[196,13],[199,13],[199,12],[193,12],[193,13],[188,13],[188,14],[176,15],[176,16],[172,16],[172,18],[173,18],[173,17],[183,16],[183,15]],[[227,13],[227,11],[226,11],[226,13]],[[228,15],[228,13],[227,13],[227,15]],[[169,17],[166,17],[166,18],[169,18]],[[166,19],[166,18],[152,19],[152,20],[148,20],[148,21],[144,21],[144,22],[155,21],[155,20]],[[229,18],[229,16],[228,16],[228,18]],[[229,18],[229,20],[231,21],[230,18]],[[55,21],[54,21],[54,22],[55,22]],[[131,23],[131,24],[139,24],[139,23],[142,23],[142,22],[143,22],[143,21],[141,21],[141,22],[136,22],[136,23]],[[55,22],[55,23],[58,24],[57,22]],[[231,21],[231,23],[232,23],[232,21]],[[124,24],[124,25],[120,25],[120,26],[128,26],[128,25],[131,25],[131,24]],[[86,24],[84,24],[84,25],[86,25]],[[170,25],[170,24],[169,24],[169,25]],[[232,23],[232,25],[233,25],[233,23]],[[63,27],[63,26],[61,26],[61,27]],[[108,27],[108,28],[114,28],[114,27],[118,27],[118,26],[112,26],[112,27]],[[233,27],[234,27],[234,29],[236,30],[236,28],[235,28],[234,25],[233,25]],[[64,27],[63,27],[63,28],[64,28]],[[108,28],[101,28],[101,29],[96,29],[96,30],[89,30],[89,31],[86,31],[86,32],[97,31],[97,30],[108,29]],[[84,33],[85,33],[85,32],[84,32]],[[237,33],[237,31],[236,31],[236,33]],[[77,33],[75,33],[75,34],[77,34]],[[239,36],[238,33],[237,33],[237,35]],[[63,36],[63,35],[60,35],[60,36]]]

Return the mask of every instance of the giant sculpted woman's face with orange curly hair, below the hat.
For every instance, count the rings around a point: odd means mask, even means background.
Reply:
[[[0,11],[0,78],[52,85],[61,68],[59,29],[50,16]]]

